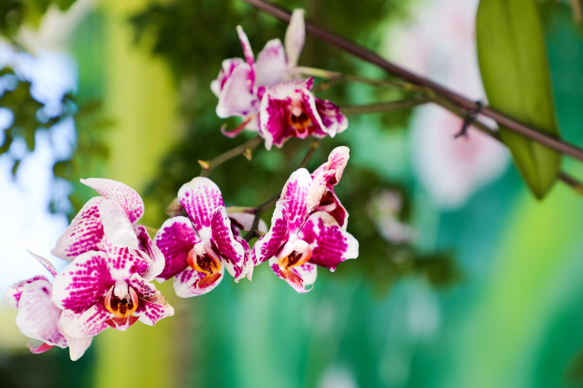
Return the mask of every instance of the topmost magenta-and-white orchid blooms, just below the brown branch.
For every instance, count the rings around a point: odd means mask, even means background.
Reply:
[[[236,129],[223,134],[234,137],[244,129],[259,131],[265,147],[271,149],[273,144],[282,147],[290,137],[334,137],[347,128],[346,116],[338,106],[312,95],[313,79],[293,80],[291,70],[304,45],[303,10],[294,10],[291,15],[285,51],[279,39],[271,40],[257,61],[240,26],[237,32],[245,60],[224,60],[219,76],[210,85],[219,98],[217,116],[243,118]]]

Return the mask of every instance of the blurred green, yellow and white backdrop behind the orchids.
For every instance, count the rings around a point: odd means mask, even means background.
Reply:
[[[477,0],[282,1],[308,19],[472,99]],[[583,145],[583,30],[578,1],[540,1],[563,137]],[[223,59],[255,54],[285,23],[239,0],[4,0],[0,3],[0,288],[43,268],[57,237],[107,177],[142,195],[158,227],[178,188],[251,133],[223,137],[210,81]],[[385,77],[307,36],[300,65]],[[399,99],[363,84],[321,84],[337,105]],[[237,120],[226,120],[230,128]],[[72,362],[34,355],[0,308],[6,387],[583,386],[583,201],[557,183],[533,199],[500,145],[437,106],[350,115],[309,165],[337,145],[350,161],[336,193],[360,257],[319,271],[297,294],[265,265],[180,299],[154,328],[97,336]],[[210,176],[227,205],[277,193],[309,141],[260,145]],[[576,163],[565,169],[583,176]],[[264,219],[271,219],[271,211]],[[48,275],[48,274],[45,274]],[[81,383],[82,382],[82,383]]]

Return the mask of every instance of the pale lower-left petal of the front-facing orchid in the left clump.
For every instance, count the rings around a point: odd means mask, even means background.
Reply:
[[[114,314],[107,310],[104,299],[100,298],[94,305],[80,314],[63,311],[61,319],[59,319],[59,328],[64,336],[93,337],[107,329],[109,326],[106,321],[113,317]]]

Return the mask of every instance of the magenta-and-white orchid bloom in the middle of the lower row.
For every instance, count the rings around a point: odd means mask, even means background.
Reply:
[[[247,275],[251,250],[240,233],[233,233],[219,187],[196,177],[178,190],[188,218],[166,220],[154,241],[166,258],[159,280],[174,277],[177,296],[206,294],[223,280],[224,270],[238,282]]]

